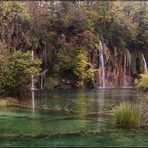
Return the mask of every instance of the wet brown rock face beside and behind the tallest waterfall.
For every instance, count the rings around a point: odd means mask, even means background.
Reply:
[[[104,59],[104,86],[105,87],[133,87],[134,81],[131,76],[131,70],[128,63],[128,60],[122,50],[117,48],[109,48],[105,43],[103,45],[103,59]],[[93,58],[99,57],[98,55]],[[95,60],[92,60],[95,61]],[[100,67],[100,60],[97,60],[98,63],[93,63],[94,68],[97,69],[95,73],[95,81],[97,86],[100,86],[102,83],[103,77],[101,76],[102,67]]]

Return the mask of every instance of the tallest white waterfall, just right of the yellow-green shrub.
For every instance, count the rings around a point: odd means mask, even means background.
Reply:
[[[103,56],[103,45],[102,42],[99,40],[99,46],[100,46],[100,50],[99,50],[99,69],[100,69],[100,73],[99,73],[99,88],[105,88],[105,70],[104,70],[104,56]]]

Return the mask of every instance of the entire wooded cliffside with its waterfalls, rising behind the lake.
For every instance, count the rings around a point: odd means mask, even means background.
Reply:
[[[36,88],[133,87],[147,71],[147,4],[1,1],[0,93],[30,89],[32,75]]]

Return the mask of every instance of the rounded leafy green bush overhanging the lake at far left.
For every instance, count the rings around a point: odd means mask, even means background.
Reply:
[[[9,57],[1,55],[0,89],[8,95],[19,95],[31,88],[31,75],[39,75],[39,60],[31,59],[31,53],[16,51]]]

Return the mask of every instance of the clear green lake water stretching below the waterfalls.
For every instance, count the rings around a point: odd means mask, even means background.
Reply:
[[[0,146],[148,146],[147,128],[119,128],[95,114],[136,97],[134,89],[27,92],[21,107],[0,108]]]

